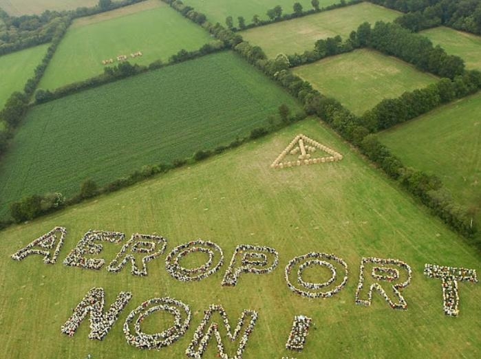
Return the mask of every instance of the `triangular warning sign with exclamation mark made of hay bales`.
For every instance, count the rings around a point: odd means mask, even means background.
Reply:
[[[316,155],[317,150],[327,153],[328,156]],[[295,155],[295,160],[286,160],[286,156]],[[327,162],[337,162],[343,159],[341,153],[334,151],[328,146],[324,146],[308,136],[299,134],[290,144],[277,156],[270,164],[271,168],[286,168],[301,166],[303,164],[321,164]]]

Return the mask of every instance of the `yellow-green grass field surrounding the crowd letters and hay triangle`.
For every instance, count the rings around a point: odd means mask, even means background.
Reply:
[[[297,133],[331,146],[344,159],[270,169],[270,162]],[[43,264],[39,256],[20,263],[8,257],[59,225],[67,228],[68,237],[55,265]],[[195,283],[172,279],[164,268],[165,256],[149,263],[145,278],[134,278],[129,268],[110,274],[105,269],[65,267],[61,261],[89,228],[123,231],[127,236],[157,232],[168,238],[168,252],[192,239],[209,239],[222,246],[226,260],[220,272]],[[236,287],[221,287],[240,243],[276,248],[279,267],[268,275],[243,274]],[[106,245],[99,257],[109,263],[116,250]],[[348,285],[334,298],[308,300],[288,290],[286,264],[311,251],[332,252],[349,265]],[[315,120],[191,168],[4,230],[0,252],[0,319],[8,328],[0,333],[1,358],[85,358],[87,353],[92,358],[185,358],[184,350],[211,303],[224,305],[234,325],[242,309],[259,312],[245,359],[292,356],[285,344],[296,314],[312,317],[315,325],[303,352],[295,353],[298,359],[383,358],[387,353],[391,358],[479,358],[481,354],[481,285],[460,283],[460,316],[448,318],[442,312],[440,281],[423,276],[425,263],[462,265],[479,272],[480,255]],[[394,257],[411,265],[413,278],[403,290],[407,311],[392,310],[376,293],[371,307],[354,304],[359,263],[369,256]],[[88,322],[74,338],[63,336],[61,325],[94,286],[105,288],[107,305],[120,290],[132,292],[133,299],[102,342],[87,338]],[[155,296],[188,303],[191,327],[171,347],[139,351],[127,345],[122,325],[134,307]],[[156,330],[171,323],[161,322],[164,318],[155,317]],[[204,358],[215,358],[213,343]]]

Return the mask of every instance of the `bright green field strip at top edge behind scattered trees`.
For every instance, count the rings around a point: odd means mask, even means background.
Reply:
[[[312,8],[310,0],[185,0],[186,5],[192,6],[198,12],[206,14],[211,23],[226,23],[226,17],[233,17],[237,26],[237,17],[244,17],[246,24],[252,23],[253,16],[259,15],[260,19],[267,20],[267,10],[275,6],[281,6],[284,14],[292,14],[294,3],[302,5],[303,10]],[[339,3],[340,0],[319,0],[319,7],[330,6]]]

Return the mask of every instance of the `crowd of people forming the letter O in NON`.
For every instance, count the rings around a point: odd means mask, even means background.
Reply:
[[[141,329],[141,324],[147,316],[164,311],[173,315],[174,325],[156,334],[145,334]],[[130,325],[134,318],[138,317],[133,325],[135,334],[131,333]],[[185,318],[182,319],[182,317]],[[127,320],[125,320],[123,331],[129,345],[138,349],[161,349],[169,347],[174,342],[182,338],[191,324],[191,308],[189,305],[177,299],[164,297],[152,298],[145,301],[134,309]]]

